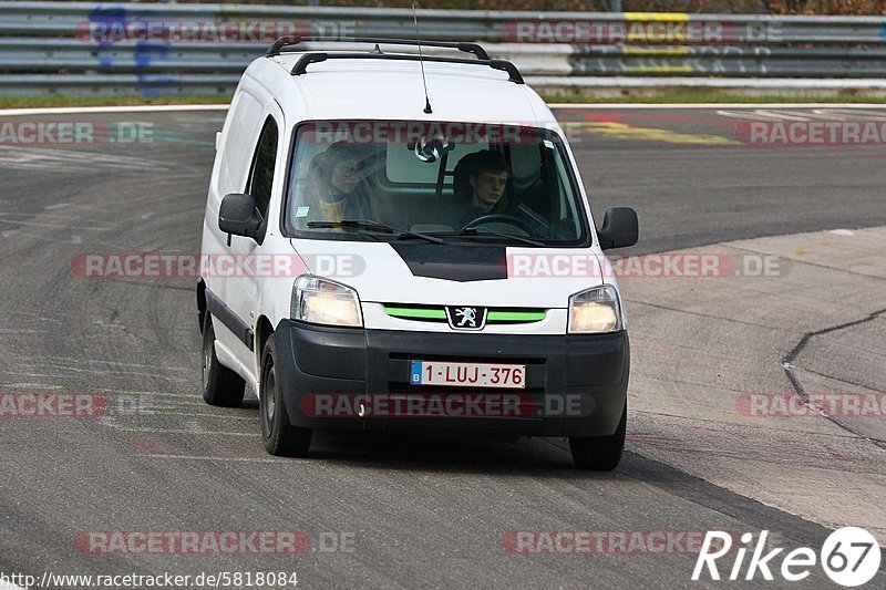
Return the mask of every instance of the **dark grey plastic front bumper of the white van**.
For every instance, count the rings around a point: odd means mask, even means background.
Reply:
[[[327,328],[284,320],[272,338],[279,356],[278,386],[296,426],[505,437],[606,436],[618,427],[627,398],[630,350],[624,331],[593,335],[439,333]],[[412,361],[525,364],[526,389],[414,386],[410,384]],[[396,410],[419,407],[405,405],[409,397],[426,402],[451,395],[461,402],[490,403],[475,404],[480,411],[468,412],[471,415]],[[513,410],[515,396],[519,411],[501,411]],[[360,400],[374,400],[377,408],[387,411],[370,410],[359,417],[353,410]],[[498,404],[502,400],[504,407]]]

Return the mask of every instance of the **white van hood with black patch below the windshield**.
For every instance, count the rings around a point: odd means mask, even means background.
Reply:
[[[363,302],[555,309],[606,282],[596,247],[290,242],[311,273],[352,287]]]

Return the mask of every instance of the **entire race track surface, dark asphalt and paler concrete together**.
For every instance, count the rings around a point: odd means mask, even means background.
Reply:
[[[886,111],[570,108],[557,116],[573,130],[597,222],[609,206],[637,209],[641,241],[631,252],[722,252],[734,240],[753,240],[741,251],[781,252],[767,237],[886,226],[883,143],[753,143],[745,128],[754,121],[886,121]],[[884,542],[882,422],[844,428],[824,418],[802,427],[723,418],[741,392],[795,393],[780,363],[804,334],[886,308],[886,276],[874,272],[845,289],[834,279],[841,297],[859,298],[849,309],[796,308],[783,327],[777,314],[756,312],[803,289],[826,291],[814,273],[837,269],[838,260],[797,263],[765,287],[739,283],[748,299],[714,280],[624,280],[636,376],[628,453],[611,474],[578,472],[562,441],[543,439],[321,433],[308,459],[267,455],[254,394],[241,408],[200,398],[196,280],[86,278],[74,262],[84,253],[197,253],[223,121],[222,111],[0,117],[109,130],[75,145],[0,143],[0,393],[109,403],[95,417],[0,417],[0,571],[38,579],[47,571],[282,571],[308,588],[661,588],[691,583],[698,548],[680,539],[699,531],[756,538],[767,529],[777,546],[817,551],[831,530],[856,524]],[[133,124],[150,130],[150,141],[105,139]],[[886,251],[882,238],[872,238],[872,251]],[[750,299],[764,291],[762,302]],[[688,320],[680,313],[690,300]],[[826,380],[884,390],[883,356],[858,360],[857,352],[865,343],[882,351],[886,331],[874,317],[867,332],[846,335],[856,340],[838,349],[842,356],[815,338],[805,359],[797,351],[797,363],[807,360],[817,375],[817,390],[807,391],[823,391]],[[777,329],[735,335],[745,333],[741,324],[766,323]],[[721,349],[713,361],[705,356]],[[843,361],[828,366],[834,359]],[[732,393],[712,389],[718,374],[731,380],[723,391]],[[752,482],[755,474],[765,477]],[[828,487],[804,497],[792,478]],[[862,511],[841,511],[841,494],[853,494],[839,489],[844,480],[865,490],[857,506],[846,500]],[[516,531],[577,530],[673,542],[658,552],[619,549],[616,540],[589,555],[526,553],[512,542]],[[132,555],[91,544],[101,531],[298,531],[310,542],[295,555]],[[721,584],[703,578],[693,587]],[[833,587],[821,569],[804,584]]]

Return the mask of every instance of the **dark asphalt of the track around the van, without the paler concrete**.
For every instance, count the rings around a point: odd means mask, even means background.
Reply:
[[[735,135],[743,120],[711,110],[558,114],[583,130],[573,147],[597,217],[636,207],[640,250],[886,225],[882,144],[749,145]],[[199,250],[223,113],[6,121],[138,122],[153,135],[0,144],[0,392],[109,400],[102,417],[0,418],[0,572],[295,571],[308,588],[660,588],[688,586],[697,552],[678,544],[661,553],[524,555],[507,540],[519,530],[648,538],[771,529],[784,547],[817,548],[828,535],[687,475],[667,451],[655,460],[629,452],[606,475],[575,470],[568,453],[538,439],[322,435],[309,459],[266,455],[255,398],[236,410],[199,398],[194,279],[72,270],[79,253]],[[260,530],[303,532],[310,549],[125,555],[83,544],[96,531]],[[832,587],[821,570],[805,583]]]

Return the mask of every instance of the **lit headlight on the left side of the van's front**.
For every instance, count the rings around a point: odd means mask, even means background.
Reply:
[[[310,323],[360,328],[360,298],[357,291],[317,277],[299,277],[292,288],[291,317]]]

